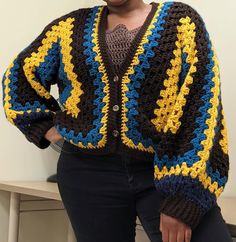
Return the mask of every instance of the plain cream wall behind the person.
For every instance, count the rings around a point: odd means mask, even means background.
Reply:
[[[230,174],[223,195],[236,196],[236,176],[234,176],[236,173],[236,108],[234,105],[234,101],[236,101],[234,95],[236,90],[234,81],[236,1],[224,0],[223,3],[219,0],[189,0],[184,2],[195,7],[205,19],[218,53],[223,105],[230,145]],[[103,2],[92,0],[87,2],[86,0],[0,0],[0,76],[3,75],[3,71],[12,57],[27,46],[47,23],[74,9],[95,4],[103,4]],[[56,93],[55,89],[54,92]],[[0,92],[0,95],[2,95],[2,92]],[[2,96],[0,98],[2,99]],[[0,124],[0,180],[45,180],[50,174],[55,173],[58,154],[51,148],[40,150],[29,143],[5,119],[2,105],[0,105]],[[8,204],[8,194],[0,192],[0,242],[6,242]],[[37,215],[31,214],[25,218],[29,229],[31,224],[29,221],[34,221],[35,216]],[[62,226],[60,213],[54,213],[53,216],[44,216],[47,221],[51,221],[49,224],[52,227],[58,229]],[[45,237],[36,236],[34,242],[47,242],[47,237],[51,238],[49,235],[52,233],[52,230],[49,228]],[[63,239],[61,234],[58,234],[58,238],[55,238],[55,241],[65,241],[65,238]],[[50,242],[53,241],[50,240]]]

